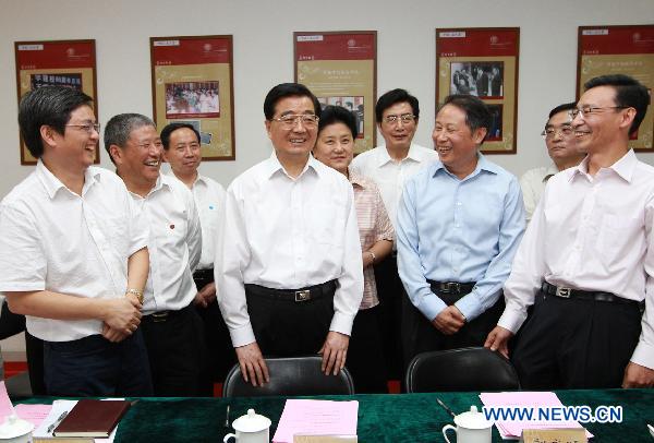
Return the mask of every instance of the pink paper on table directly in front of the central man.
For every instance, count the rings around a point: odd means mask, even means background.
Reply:
[[[293,443],[293,435],[356,435],[359,402],[288,399],[274,443]]]

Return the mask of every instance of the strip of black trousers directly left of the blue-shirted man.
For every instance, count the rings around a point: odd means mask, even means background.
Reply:
[[[379,297],[379,324],[386,370],[391,380],[401,380],[402,368],[402,299],[407,292],[398,274],[398,261],[393,254],[375,265],[375,282]]]

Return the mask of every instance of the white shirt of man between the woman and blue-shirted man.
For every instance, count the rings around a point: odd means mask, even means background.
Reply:
[[[396,161],[390,158],[386,145],[382,145],[359,154],[350,167],[354,172],[372,179],[377,184],[388,217],[397,230],[398,205],[402,197],[404,182],[436,160],[438,160],[436,151],[411,143],[407,157]]]

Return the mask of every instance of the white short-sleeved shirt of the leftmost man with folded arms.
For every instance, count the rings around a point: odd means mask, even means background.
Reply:
[[[122,180],[89,167],[82,195],[38,161],[0,205],[0,291],[49,290],[69,296],[124,297],[128,259],[147,246],[148,229]],[[26,316],[44,340],[100,334],[99,320]]]

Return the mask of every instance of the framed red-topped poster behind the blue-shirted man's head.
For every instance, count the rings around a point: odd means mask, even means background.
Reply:
[[[519,27],[436,29],[436,106],[448,95],[470,94],[491,108],[484,154],[518,152]]]

